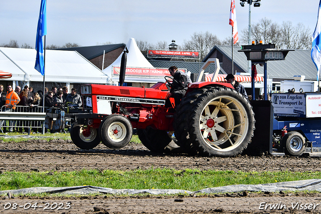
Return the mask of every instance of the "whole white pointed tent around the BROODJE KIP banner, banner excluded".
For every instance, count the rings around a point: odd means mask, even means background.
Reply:
[[[127,53],[127,62],[126,62],[126,68],[154,68],[148,60],[144,57],[144,55],[140,52],[135,39],[130,38],[127,45],[128,49]],[[117,84],[119,81],[119,76],[113,76],[113,67],[120,67],[122,53],[119,55],[119,57],[107,68],[103,70],[103,72],[108,75],[108,83],[109,84]],[[133,76],[126,76],[125,75],[125,81],[126,82],[152,82],[156,83],[158,81],[165,81],[164,77],[161,78],[148,78],[148,77],[133,77]]]

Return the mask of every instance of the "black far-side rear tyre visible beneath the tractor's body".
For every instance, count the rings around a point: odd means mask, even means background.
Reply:
[[[151,152],[163,153],[166,151],[166,147],[172,143],[172,141],[175,141],[175,139],[170,136],[173,133],[169,133],[164,130],[153,129],[150,126],[146,127],[146,129],[137,129],[139,140]]]

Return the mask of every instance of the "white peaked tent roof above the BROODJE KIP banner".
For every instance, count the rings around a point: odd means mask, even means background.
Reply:
[[[148,60],[144,57],[144,55],[140,52],[140,50],[139,50],[134,38],[130,38],[129,39],[126,47],[128,49],[126,67],[131,67],[131,68],[154,68],[154,66],[152,66],[148,62]],[[113,63],[111,63],[111,65],[109,65],[107,68],[102,70],[102,72],[104,72],[106,75],[111,77],[112,67],[113,66],[120,67],[121,56],[122,56],[122,53],[119,55],[119,57]]]

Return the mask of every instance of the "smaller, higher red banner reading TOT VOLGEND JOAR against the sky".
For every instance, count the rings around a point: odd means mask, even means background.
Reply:
[[[173,58],[193,58],[199,59],[199,51],[173,51],[173,50],[149,50],[147,57],[173,57]]]

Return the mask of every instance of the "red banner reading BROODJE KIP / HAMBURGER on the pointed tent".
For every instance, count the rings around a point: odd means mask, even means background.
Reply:
[[[186,69],[179,68],[186,72]],[[112,67],[113,76],[119,76],[120,67]],[[126,76],[163,77],[171,76],[168,68],[126,68]]]

